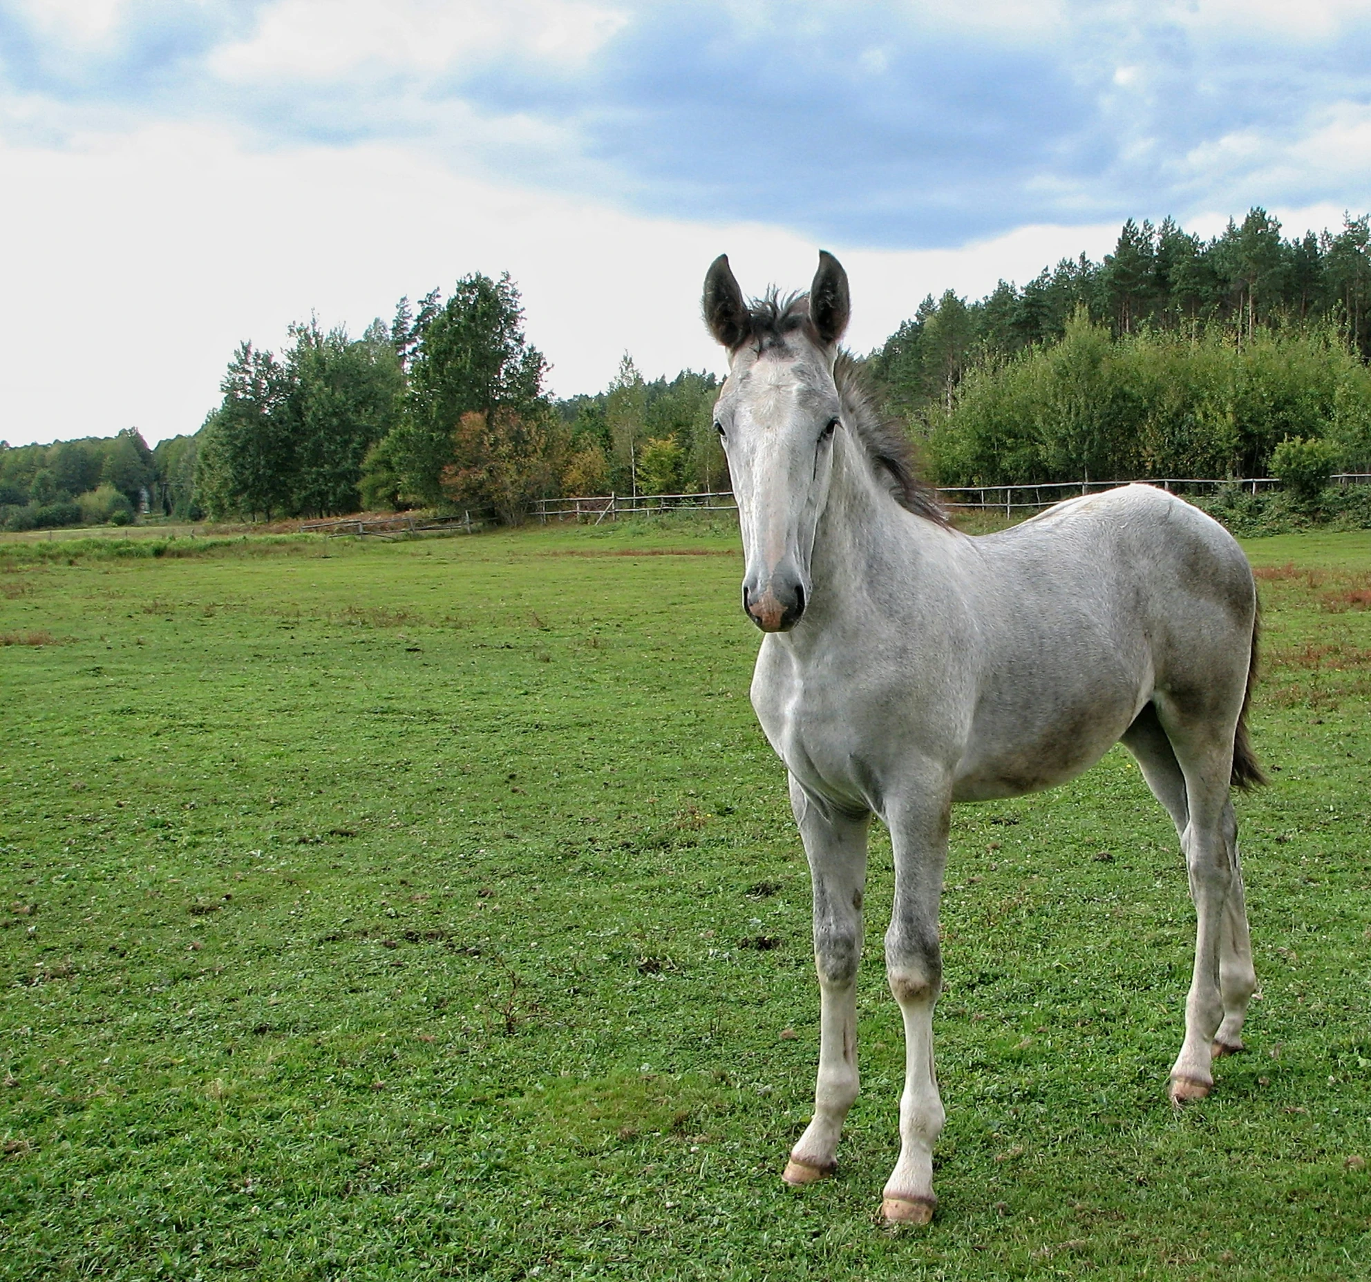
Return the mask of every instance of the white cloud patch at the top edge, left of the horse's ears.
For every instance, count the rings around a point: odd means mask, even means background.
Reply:
[[[229,80],[329,80],[367,66],[433,73],[502,52],[574,64],[625,22],[579,0],[282,0],[211,66]]]

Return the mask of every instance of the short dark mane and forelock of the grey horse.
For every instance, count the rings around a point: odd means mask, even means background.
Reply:
[[[792,333],[803,333],[816,346],[823,346],[809,319],[808,293],[777,293],[768,289],[747,307],[753,341],[757,352],[786,347]],[[890,496],[906,511],[947,525],[938,491],[919,476],[914,447],[893,418],[882,418],[871,402],[871,391],[861,365],[846,351],[839,351],[834,365],[834,383],[843,407],[843,422],[853,437],[866,451],[876,474],[886,481]]]

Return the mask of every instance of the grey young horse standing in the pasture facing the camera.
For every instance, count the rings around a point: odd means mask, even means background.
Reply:
[[[1256,987],[1230,786],[1261,783],[1246,709],[1257,596],[1215,521],[1149,485],[1058,503],[999,533],[953,529],[838,350],[847,276],[744,302],[721,255],[705,319],[728,350],[714,410],[765,632],[751,699],[790,772],[813,878],[820,986],[814,1113],[784,1179],[835,1167],[857,1098],[856,978],[871,817],[890,830],[886,971],[905,1024],[890,1222],[927,1223],[945,1112],[932,1012],[953,802],[1065,783],[1119,742],[1180,835],[1197,916],[1171,1098],[1200,1100],[1242,1049]]]

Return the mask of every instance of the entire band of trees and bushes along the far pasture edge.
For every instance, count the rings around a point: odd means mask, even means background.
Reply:
[[[1371,226],[1282,237],[1253,208],[1202,240],[1123,225],[1113,254],[986,298],[930,295],[864,358],[945,485],[1371,470]],[[359,339],[315,318],[244,341],[193,435],[0,443],[0,525],[273,520],[724,488],[713,374],[553,399],[515,284],[469,274]],[[1291,472],[1293,474],[1293,472]]]

